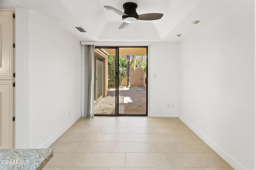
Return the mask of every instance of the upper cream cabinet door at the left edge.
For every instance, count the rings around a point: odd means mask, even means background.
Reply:
[[[13,18],[12,11],[0,10],[0,80],[12,80]]]

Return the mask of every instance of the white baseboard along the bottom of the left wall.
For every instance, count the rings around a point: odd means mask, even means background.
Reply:
[[[50,147],[63,133],[65,133],[78,119],[81,118],[81,115],[76,116],[72,121],[70,121],[67,125],[65,125],[60,131],[55,133],[46,143],[44,143],[40,148],[48,148]]]

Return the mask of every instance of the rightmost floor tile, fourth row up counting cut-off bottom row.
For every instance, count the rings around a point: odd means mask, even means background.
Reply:
[[[203,142],[196,134],[158,134],[161,142]]]

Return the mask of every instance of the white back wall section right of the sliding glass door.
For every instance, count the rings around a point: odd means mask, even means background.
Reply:
[[[148,116],[178,116],[178,52],[178,43],[153,43],[148,49]]]

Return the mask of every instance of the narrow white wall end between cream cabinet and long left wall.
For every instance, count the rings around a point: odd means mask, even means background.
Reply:
[[[28,19],[27,9],[16,9],[15,148],[28,148]]]

